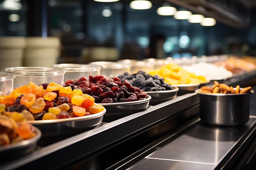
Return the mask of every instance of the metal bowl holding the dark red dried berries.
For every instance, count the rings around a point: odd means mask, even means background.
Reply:
[[[136,113],[139,110],[145,109],[149,105],[151,99],[150,95],[147,95],[146,99],[135,102],[124,102],[124,103],[101,103],[107,110],[106,116],[121,116],[130,115]]]

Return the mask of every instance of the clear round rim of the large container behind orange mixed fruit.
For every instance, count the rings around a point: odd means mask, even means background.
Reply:
[[[2,69],[2,72],[19,77],[49,77],[65,74],[63,69],[53,67],[10,67]]]

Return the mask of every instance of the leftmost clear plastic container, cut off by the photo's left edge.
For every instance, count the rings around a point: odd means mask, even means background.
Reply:
[[[13,90],[14,75],[0,72],[0,95],[5,95]]]

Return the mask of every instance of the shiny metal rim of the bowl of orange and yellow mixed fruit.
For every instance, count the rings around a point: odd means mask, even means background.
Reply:
[[[27,122],[33,125],[40,125],[40,124],[52,124],[52,123],[61,123],[61,122],[69,122],[69,121],[84,121],[84,120],[90,120],[90,119],[95,119],[97,117],[101,117],[105,113],[106,113],[106,108],[104,108],[104,110],[99,113],[95,113],[87,116],[70,117],[65,119],[53,119],[53,120],[33,120],[33,121],[27,121]]]

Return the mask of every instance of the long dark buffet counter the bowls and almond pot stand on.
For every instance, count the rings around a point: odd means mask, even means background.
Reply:
[[[251,72],[225,83],[255,81]],[[0,169],[241,169],[255,157],[255,101],[254,93],[247,124],[216,127],[201,123],[198,95],[185,94],[86,132],[43,137],[34,152],[1,161]]]

